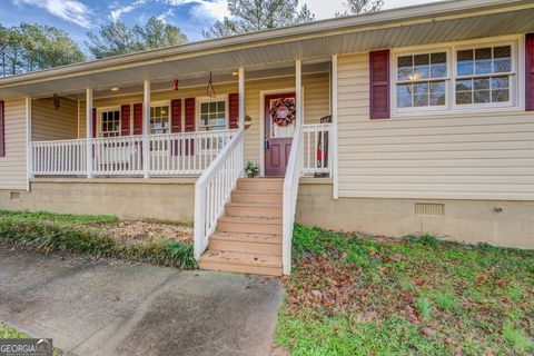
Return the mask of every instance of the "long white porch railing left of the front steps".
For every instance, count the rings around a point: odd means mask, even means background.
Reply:
[[[200,175],[237,130],[149,135],[149,172]],[[87,170],[86,139],[31,144],[32,175],[79,176]],[[92,138],[95,176],[139,176],[144,174],[144,136]]]

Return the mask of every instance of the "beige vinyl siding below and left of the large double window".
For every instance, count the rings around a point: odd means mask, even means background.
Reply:
[[[534,113],[369,119],[368,55],[339,58],[340,197],[534,200]]]

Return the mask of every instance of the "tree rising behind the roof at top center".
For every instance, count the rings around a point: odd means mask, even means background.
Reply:
[[[306,4],[300,11],[297,9],[298,0],[228,0],[231,17],[216,21],[202,34],[205,38],[227,37],[315,20]]]

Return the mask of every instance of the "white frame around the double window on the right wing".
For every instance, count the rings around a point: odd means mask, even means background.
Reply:
[[[456,105],[456,80],[457,77],[457,51],[463,49],[476,49],[485,47],[512,46],[512,68],[513,73],[508,75],[510,80],[510,98],[508,102],[491,102],[474,105]],[[409,55],[432,53],[438,51],[447,51],[447,75],[448,83],[446,83],[446,105],[444,107],[417,107],[417,108],[398,108],[397,107],[397,58]],[[490,39],[468,40],[459,42],[415,46],[407,48],[393,49],[389,55],[389,105],[392,108],[392,117],[406,116],[427,116],[427,115],[452,115],[468,112],[494,112],[524,110],[525,102],[522,100],[525,96],[525,37],[504,36]],[[492,76],[492,75],[490,75]],[[498,77],[500,73],[493,75]],[[486,76],[487,77],[487,76]]]

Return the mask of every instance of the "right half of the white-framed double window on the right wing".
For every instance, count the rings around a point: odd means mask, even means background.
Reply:
[[[456,52],[456,105],[511,101],[512,46]]]

